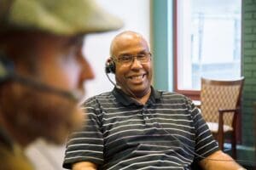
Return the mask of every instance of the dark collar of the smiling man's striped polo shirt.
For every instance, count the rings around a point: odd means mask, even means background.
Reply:
[[[132,99],[119,88],[113,88],[112,93],[113,96],[117,99],[117,101],[122,105],[141,105],[135,99]],[[160,100],[161,95],[162,93],[160,91],[155,90],[151,86],[151,94],[149,96],[147,103],[151,104],[157,102],[157,100]]]

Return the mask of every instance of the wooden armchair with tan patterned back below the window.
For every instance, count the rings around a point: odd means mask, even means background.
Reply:
[[[221,150],[224,150],[224,137],[231,134],[231,150],[234,158],[236,158],[236,122],[241,111],[243,82],[244,77],[232,81],[201,78],[202,116]]]

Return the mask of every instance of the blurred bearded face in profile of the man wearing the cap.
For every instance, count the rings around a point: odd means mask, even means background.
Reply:
[[[33,39],[32,54],[28,54],[36,58],[36,66],[33,66],[36,71],[31,73],[24,69],[30,65],[17,63],[19,73],[52,88],[84,94],[84,81],[94,75],[82,54],[83,38],[44,35]],[[9,114],[9,121],[24,130],[28,138],[43,137],[61,144],[84,120],[83,111],[72,99],[19,83],[13,83],[9,88],[5,91],[8,96],[4,99],[5,112]]]

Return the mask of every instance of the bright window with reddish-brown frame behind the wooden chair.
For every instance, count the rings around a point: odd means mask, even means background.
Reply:
[[[175,85],[198,99],[201,77],[241,76],[241,0],[175,0]]]

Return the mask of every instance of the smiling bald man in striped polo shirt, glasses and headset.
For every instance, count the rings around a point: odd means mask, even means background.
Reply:
[[[218,150],[190,99],[151,86],[152,54],[140,34],[120,33],[110,54],[106,71],[115,74],[115,88],[85,101],[89,118],[68,140],[63,167],[177,170],[194,163],[203,169],[242,169]]]

